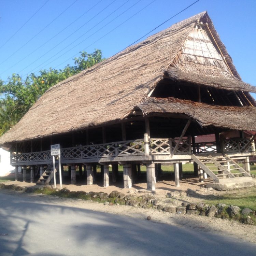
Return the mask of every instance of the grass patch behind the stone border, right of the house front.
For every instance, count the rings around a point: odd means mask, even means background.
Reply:
[[[225,203],[227,205],[237,205],[240,208],[250,208],[256,211],[256,187],[228,192],[225,196],[214,200],[205,200],[206,204]]]

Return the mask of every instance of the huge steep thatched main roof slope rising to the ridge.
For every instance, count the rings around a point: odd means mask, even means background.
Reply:
[[[211,33],[215,33],[230,69],[225,71],[225,77],[235,76],[239,80],[208,14],[202,12],[53,86],[0,138],[0,144],[124,119],[163,78],[174,60],[177,65],[176,56],[181,55],[182,47],[200,20],[208,22]]]

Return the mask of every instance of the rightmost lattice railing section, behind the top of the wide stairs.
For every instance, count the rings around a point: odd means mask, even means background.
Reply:
[[[223,141],[224,152],[243,152],[250,139],[228,139]],[[246,151],[253,151],[251,144]]]

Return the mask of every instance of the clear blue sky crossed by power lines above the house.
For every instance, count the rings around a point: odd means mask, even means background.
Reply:
[[[73,65],[82,50],[98,48],[108,58],[194,1],[1,0],[0,79]],[[256,86],[254,0],[200,0],[151,34],[202,11],[208,11],[243,81]]]

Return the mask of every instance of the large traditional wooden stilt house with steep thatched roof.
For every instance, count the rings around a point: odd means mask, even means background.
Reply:
[[[247,182],[254,138],[243,131],[256,130],[250,92],[256,87],[241,80],[203,12],[53,86],[0,144],[10,147],[13,166],[31,167],[31,180],[40,168],[39,183],[52,178],[49,149],[56,143],[73,184],[75,166],[87,167],[90,185],[100,164],[108,186],[109,165],[115,182],[121,163],[124,186],[131,187],[132,173],[144,164],[147,187],[154,190],[157,167],[172,163],[179,186],[181,162],[194,162],[200,179],[210,177],[213,184]],[[239,136],[227,137],[228,131]],[[205,134],[215,140],[195,142]]]

